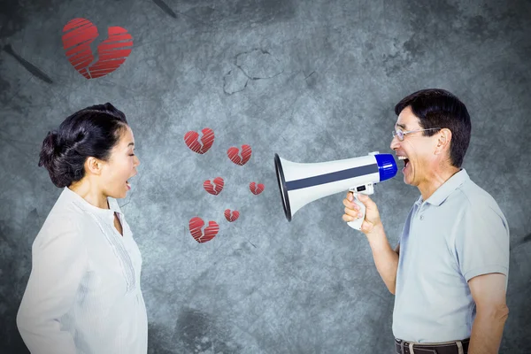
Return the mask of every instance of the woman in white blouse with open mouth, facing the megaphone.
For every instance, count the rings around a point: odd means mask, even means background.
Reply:
[[[142,258],[115,198],[140,164],[112,104],[73,113],[42,142],[39,166],[62,188],[32,247],[17,326],[32,353],[145,354]]]

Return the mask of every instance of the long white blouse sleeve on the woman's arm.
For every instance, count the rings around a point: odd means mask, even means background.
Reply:
[[[32,270],[17,313],[20,335],[32,353],[75,354],[61,317],[72,307],[88,256],[80,231],[70,221],[53,225],[32,246]]]

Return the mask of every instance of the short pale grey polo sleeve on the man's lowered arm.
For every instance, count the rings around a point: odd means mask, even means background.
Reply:
[[[509,274],[509,226],[489,206],[468,208],[458,223],[458,265],[466,281],[487,273]]]

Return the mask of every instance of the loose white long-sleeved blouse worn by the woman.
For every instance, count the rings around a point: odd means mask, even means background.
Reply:
[[[111,209],[97,208],[65,187],[36,236],[17,314],[32,353],[147,353],[142,257],[118,203],[108,201]]]

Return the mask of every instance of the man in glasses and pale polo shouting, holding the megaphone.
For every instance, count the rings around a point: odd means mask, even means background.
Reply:
[[[395,295],[397,353],[497,353],[508,316],[509,227],[496,201],[461,167],[470,142],[465,104],[443,89],[404,97],[390,148],[420,191],[396,250],[370,197],[361,231]],[[344,221],[358,218],[349,192]],[[436,351],[435,351],[436,350]]]

